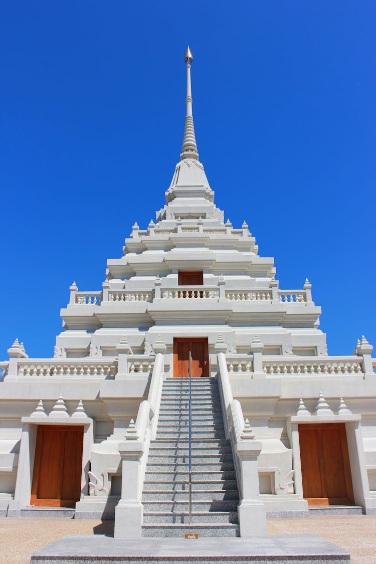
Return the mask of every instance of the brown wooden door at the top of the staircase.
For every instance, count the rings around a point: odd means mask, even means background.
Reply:
[[[191,351],[191,376],[209,376],[209,346],[207,337],[174,338],[174,377],[189,377],[189,351]]]

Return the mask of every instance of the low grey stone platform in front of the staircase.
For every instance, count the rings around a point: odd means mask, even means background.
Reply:
[[[148,564],[184,562],[350,562],[350,553],[317,535],[267,535],[244,538],[114,539],[104,535],[68,535],[32,554],[31,564]]]

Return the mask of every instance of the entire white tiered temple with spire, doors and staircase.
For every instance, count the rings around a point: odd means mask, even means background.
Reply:
[[[101,288],[70,286],[52,358],[16,339],[0,363],[0,514],[116,515],[115,536],[134,538],[376,513],[373,347],[360,337],[328,356],[308,279],[281,289],[247,223],[224,222],[198,156],[189,50],[185,63],[165,205],[134,223]]]

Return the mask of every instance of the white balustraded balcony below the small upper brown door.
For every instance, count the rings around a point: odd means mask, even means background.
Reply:
[[[294,327],[312,327],[321,313],[311,296],[311,284],[303,289],[280,290],[271,280],[267,288],[231,288],[223,276],[216,285],[167,285],[159,276],[153,287],[145,289],[110,288],[103,292],[79,292],[70,287],[70,300],[61,315],[68,327],[112,327],[116,323],[196,324],[235,323],[250,325],[267,323]]]

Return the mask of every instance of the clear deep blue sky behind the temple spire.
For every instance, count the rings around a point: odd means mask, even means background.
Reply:
[[[189,42],[216,204],[280,287],[311,281],[329,354],[375,330],[376,3],[0,5],[0,360],[52,356],[73,279],[164,204],[183,138]]]

